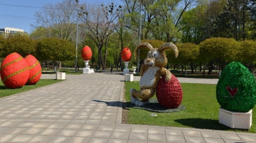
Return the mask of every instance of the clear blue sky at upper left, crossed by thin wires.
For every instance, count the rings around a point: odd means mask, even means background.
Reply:
[[[0,28],[13,27],[24,29],[24,31],[31,33],[33,28],[30,24],[35,22],[34,13],[39,11],[39,8],[47,3],[59,3],[62,0],[1,0],[0,1]],[[121,4],[121,0],[79,0],[79,3],[111,3]],[[18,6],[9,6],[18,5]],[[19,7],[29,6],[29,7]]]

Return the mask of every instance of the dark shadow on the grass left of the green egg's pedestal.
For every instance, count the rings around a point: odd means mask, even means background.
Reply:
[[[200,129],[214,129],[214,130],[231,129],[230,127],[219,124],[219,121],[214,119],[188,118],[188,119],[177,119],[175,120],[175,122],[178,122],[182,125],[190,126],[193,128],[200,128]]]

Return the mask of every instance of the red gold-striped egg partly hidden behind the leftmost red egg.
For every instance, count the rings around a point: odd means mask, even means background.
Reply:
[[[29,78],[27,81],[27,85],[36,84],[42,75],[42,68],[39,61],[31,54],[27,55],[24,58],[29,66]]]

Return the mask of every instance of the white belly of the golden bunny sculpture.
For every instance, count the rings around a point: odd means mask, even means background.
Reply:
[[[156,73],[159,70],[159,67],[151,66],[140,78],[140,87],[152,87],[155,83]]]

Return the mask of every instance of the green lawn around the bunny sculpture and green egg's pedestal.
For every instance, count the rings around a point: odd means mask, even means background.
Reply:
[[[128,124],[233,130],[218,123],[220,105],[216,99],[216,85],[181,83],[181,86],[184,94],[181,105],[186,106],[185,110],[173,113],[156,113],[157,117],[151,117],[149,114],[153,112],[129,108]],[[125,99],[128,103],[130,103],[129,90],[132,88],[138,90],[139,82],[125,82]],[[253,113],[256,113],[256,107],[253,108]],[[256,133],[256,116],[252,118],[252,126],[248,132]]]

